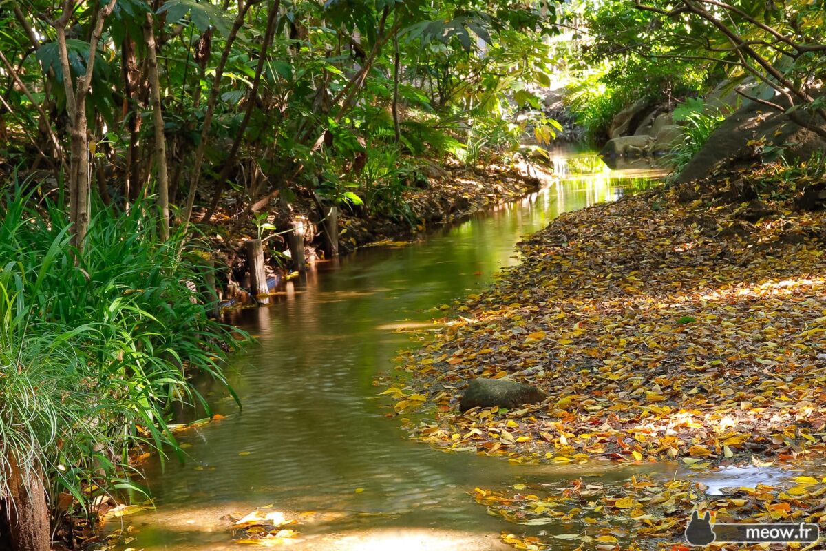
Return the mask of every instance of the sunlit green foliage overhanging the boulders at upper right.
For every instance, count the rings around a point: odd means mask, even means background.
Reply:
[[[819,99],[826,50],[817,38],[826,30],[823,2],[610,0],[584,6],[590,40],[582,45],[582,61],[610,64],[602,78],[606,94],[671,100],[704,91],[706,82],[748,76],[771,88],[763,100],[779,100],[766,103],[768,109],[802,108],[817,118],[802,124],[826,135],[826,102]],[[608,117],[584,118],[604,124]]]

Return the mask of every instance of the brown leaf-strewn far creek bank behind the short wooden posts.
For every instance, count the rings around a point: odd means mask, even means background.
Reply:
[[[515,166],[487,164],[463,167],[458,164],[431,166],[423,187],[407,188],[402,200],[406,216],[401,213],[373,212],[363,207],[340,207],[339,254],[352,254],[358,247],[411,240],[435,227],[447,226],[505,202],[512,202],[535,192],[539,178],[529,176]],[[326,204],[324,207],[328,207]],[[200,216],[202,213],[196,213]],[[258,218],[236,216],[226,207],[212,217],[208,238],[219,259],[226,266],[219,272],[218,291],[222,300],[244,302],[249,298],[249,267],[244,243],[262,235],[265,270],[270,287],[278,285],[299,267],[292,262],[287,234],[292,221],[304,221],[305,259],[307,263],[329,259],[325,254],[323,216],[309,195],[297,197],[290,204],[273,197]],[[259,231],[267,225],[273,231]]]

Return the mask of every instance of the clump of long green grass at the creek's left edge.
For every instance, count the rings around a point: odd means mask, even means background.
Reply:
[[[173,406],[208,411],[192,376],[225,382],[238,341],[191,288],[207,249],[159,240],[150,204],[96,206],[78,254],[64,211],[35,199],[16,185],[0,200],[0,468],[36,469],[83,512],[102,493],[140,489],[130,449],[179,452]]]

